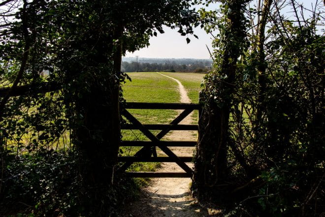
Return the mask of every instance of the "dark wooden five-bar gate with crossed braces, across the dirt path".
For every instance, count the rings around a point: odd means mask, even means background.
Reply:
[[[134,154],[134,156],[120,156],[119,162],[125,162],[120,168],[120,171],[126,171],[134,162],[175,162],[185,172],[182,173],[158,173],[158,172],[129,172],[129,177],[172,177],[172,178],[187,178],[192,177],[193,170],[185,163],[192,162],[192,157],[178,157],[168,146],[195,146],[196,142],[192,141],[161,141],[162,137],[170,130],[197,130],[197,125],[180,125],[178,124],[193,110],[198,110],[198,104],[185,103],[127,103],[122,111],[130,124],[125,124],[122,129],[140,130],[150,141],[122,141],[121,146],[141,146],[142,148]],[[141,124],[127,109],[182,109],[183,111],[169,124]],[[161,130],[157,135],[152,134],[149,130]],[[158,157],[156,147],[162,149],[167,157]]]

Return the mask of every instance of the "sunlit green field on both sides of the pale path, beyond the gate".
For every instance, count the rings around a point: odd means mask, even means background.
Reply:
[[[161,72],[181,81],[193,103],[198,102],[198,92],[203,74]],[[178,103],[180,95],[178,84],[156,72],[130,72],[131,82],[123,85],[123,94],[127,102]],[[129,109],[141,123],[169,123],[177,115],[174,110]],[[157,134],[158,131],[152,131]],[[148,140],[137,130],[123,130],[123,140]],[[123,156],[132,156],[140,147],[123,147]],[[159,163],[134,163],[131,171],[154,171]]]

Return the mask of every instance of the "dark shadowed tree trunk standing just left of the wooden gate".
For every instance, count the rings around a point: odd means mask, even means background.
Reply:
[[[123,28],[116,30],[120,39]],[[106,216],[109,190],[114,181],[114,170],[121,140],[120,123],[120,71],[122,43],[114,49],[113,60],[107,59],[107,50],[102,51],[107,41],[97,43],[97,54],[87,61],[93,66],[76,72],[76,79],[70,80],[70,95],[73,96],[73,143],[79,154],[79,173],[87,198],[92,204],[94,216]],[[91,59],[94,58],[94,59]],[[78,81],[75,81],[78,80]],[[70,102],[70,101],[69,101]],[[83,203],[87,200],[83,200]]]

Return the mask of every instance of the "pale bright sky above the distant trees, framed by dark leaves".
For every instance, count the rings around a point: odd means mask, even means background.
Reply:
[[[316,0],[298,0],[303,2],[305,5],[310,5]],[[215,9],[219,7],[214,4],[208,7],[208,9]],[[203,29],[199,27],[195,28],[195,35],[198,36],[196,39],[194,36],[181,36],[177,33],[177,28],[172,30],[165,27],[163,29],[164,34],[159,34],[150,38],[150,46],[142,48],[134,53],[128,52],[126,57],[139,58],[194,58],[194,59],[210,59],[209,51],[206,45],[212,52],[212,36],[208,35]],[[186,37],[191,39],[191,42],[187,44]]]

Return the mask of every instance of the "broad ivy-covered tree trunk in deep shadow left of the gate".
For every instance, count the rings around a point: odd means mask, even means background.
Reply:
[[[114,199],[114,170],[121,140],[120,67],[122,44],[119,34],[89,31],[78,43],[82,49],[67,52],[65,64],[65,102],[71,139],[77,153],[81,185],[81,209],[92,216],[107,216]],[[65,53],[64,53],[65,54]],[[67,54],[65,54],[68,56]],[[92,207],[92,210],[88,210]]]

